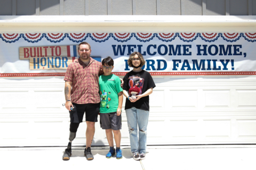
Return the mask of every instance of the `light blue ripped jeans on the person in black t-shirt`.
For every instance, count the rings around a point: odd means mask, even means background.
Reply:
[[[147,125],[149,111],[132,107],[126,109],[126,117],[130,134],[131,151],[143,152],[146,154],[147,148]],[[138,140],[138,126],[139,126],[139,140]]]

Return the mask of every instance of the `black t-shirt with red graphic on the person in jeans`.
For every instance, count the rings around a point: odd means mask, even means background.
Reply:
[[[151,77],[149,72],[145,70],[142,70],[140,72],[130,71],[125,75],[123,89],[129,93],[129,89],[134,86],[140,89],[138,95],[143,94],[150,88],[156,87],[153,78]],[[132,107],[149,111],[149,96],[142,97],[134,103],[131,103],[131,101],[126,98],[124,109],[129,109]]]

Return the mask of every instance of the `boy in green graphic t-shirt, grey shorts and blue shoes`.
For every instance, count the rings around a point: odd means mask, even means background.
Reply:
[[[120,149],[122,129],[122,103],[123,89],[121,88],[120,79],[112,74],[114,69],[114,61],[111,57],[102,60],[104,74],[99,77],[100,87],[100,126],[106,130],[110,150],[106,158],[115,155],[116,158],[122,159],[122,150]],[[116,142],[116,151],[114,148],[113,133]]]

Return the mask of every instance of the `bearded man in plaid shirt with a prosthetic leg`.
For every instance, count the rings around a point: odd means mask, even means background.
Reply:
[[[70,114],[69,143],[62,159],[69,160],[71,156],[71,142],[76,137],[79,123],[83,122],[85,113],[86,148],[84,155],[92,160],[91,145],[95,132],[95,122],[98,122],[100,111],[99,76],[103,74],[102,64],[94,60],[91,46],[83,42],[78,46],[79,58],[68,66],[65,75],[66,108]],[[123,80],[121,80],[123,82]]]

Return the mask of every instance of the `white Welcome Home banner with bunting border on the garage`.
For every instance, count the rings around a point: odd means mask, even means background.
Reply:
[[[152,75],[256,74],[256,33],[0,33],[0,77],[63,76],[86,41],[91,56],[114,59],[113,72],[132,70],[140,52]]]

